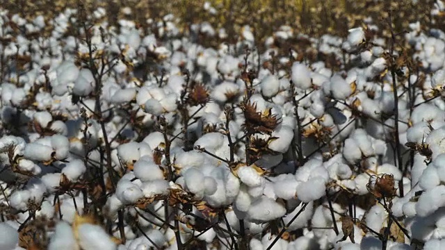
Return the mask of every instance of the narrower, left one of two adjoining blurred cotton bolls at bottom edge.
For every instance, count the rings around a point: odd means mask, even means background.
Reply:
[[[76,250],[78,248],[70,224],[63,221],[58,222],[54,235],[51,235],[48,250]]]

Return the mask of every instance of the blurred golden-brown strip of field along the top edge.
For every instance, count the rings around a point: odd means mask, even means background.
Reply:
[[[261,45],[268,35],[280,26],[286,25],[296,33],[321,36],[325,33],[345,37],[349,28],[362,26],[366,22],[375,25],[387,21],[387,13],[392,10],[396,31],[408,28],[411,22],[419,21],[422,26],[436,28],[442,22],[442,13],[437,9],[436,0],[2,0],[3,8],[10,14],[33,18],[44,15],[48,19],[65,8],[85,6],[87,10],[105,8],[108,23],[117,24],[119,19],[131,19],[142,28],[149,26],[147,19],[162,21],[168,14],[175,15],[181,32],[187,32],[191,24],[209,22],[213,28],[225,28],[227,42],[236,40],[241,28],[250,26],[256,41]],[[440,1],[439,1],[440,2]],[[440,3],[439,3],[440,4]],[[131,8],[126,15],[123,8]],[[385,35],[385,34],[384,34]],[[207,45],[220,44],[219,40]]]

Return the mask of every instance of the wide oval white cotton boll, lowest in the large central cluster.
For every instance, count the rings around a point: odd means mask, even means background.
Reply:
[[[262,196],[255,200],[248,210],[248,217],[252,222],[270,222],[273,219],[283,217],[286,208],[280,203],[268,197]]]

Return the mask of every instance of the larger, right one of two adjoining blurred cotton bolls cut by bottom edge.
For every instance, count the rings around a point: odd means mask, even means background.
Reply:
[[[115,250],[116,244],[105,232],[102,226],[92,224],[81,224],[79,226],[78,237],[79,245],[84,250]]]

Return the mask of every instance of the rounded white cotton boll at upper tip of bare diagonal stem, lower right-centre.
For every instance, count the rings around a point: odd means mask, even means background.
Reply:
[[[321,177],[310,178],[297,186],[297,197],[302,202],[315,201],[325,195],[326,183]]]

